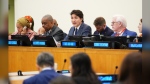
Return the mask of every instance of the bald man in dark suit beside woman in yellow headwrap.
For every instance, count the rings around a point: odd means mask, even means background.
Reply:
[[[42,18],[42,27],[46,31],[44,35],[53,36],[56,41],[61,41],[64,39],[63,31],[59,27],[54,26],[54,20],[51,15],[45,15]]]

